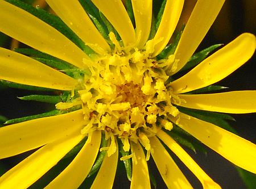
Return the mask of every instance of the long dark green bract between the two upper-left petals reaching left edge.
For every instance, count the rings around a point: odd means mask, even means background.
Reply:
[[[52,68],[56,68],[58,70],[63,69],[73,69],[76,68],[75,66],[69,64],[66,61],[60,60],[59,58],[53,57],[49,54],[40,52],[36,49],[31,48],[16,48],[14,49],[15,52],[30,56],[43,64],[46,64]]]

